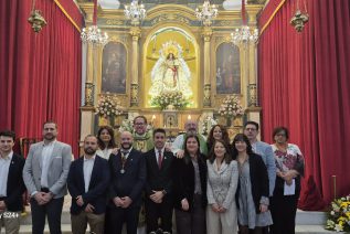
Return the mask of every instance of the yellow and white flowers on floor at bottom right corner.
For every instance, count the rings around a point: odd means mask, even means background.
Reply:
[[[326,230],[350,232],[350,194],[331,202]]]

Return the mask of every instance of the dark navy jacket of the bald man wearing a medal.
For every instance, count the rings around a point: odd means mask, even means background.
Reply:
[[[121,155],[110,155],[110,185],[109,205],[115,206],[112,199],[129,196],[132,200],[130,206],[141,205],[141,194],[146,183],[146,161],[141,151],[132,148],[125,163],[125,173],[121,173]]]

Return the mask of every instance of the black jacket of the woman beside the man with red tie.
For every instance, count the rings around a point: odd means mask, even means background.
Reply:
[[[174,160],[174,178],[173,178],[173,193],[174,193],[174,208],[182,210],[181,201],[187,199],[190,205],[189,211],[193,206],[194,196],[194,167],[191,159],[185,162],[185,157],[182,159]],[[201,189],[202,189],[202,206],[205,208],[206,200],[206,163],[205,156],[201,155],[198,157],[198,166],[200,170],[201,178]]]

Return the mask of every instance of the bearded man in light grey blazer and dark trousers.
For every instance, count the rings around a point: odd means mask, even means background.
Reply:
[[[72,163],[71,146],[56,140],[57,125],[43,125],[44,140],[31,145],[23,168],[23,180],[31,195],[32,233],[42,234],[47,215],[51,234],[61,234],[61,214],[66,180]]]

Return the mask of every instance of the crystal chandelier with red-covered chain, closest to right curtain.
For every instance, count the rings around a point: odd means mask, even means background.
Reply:
[[[231,41],[233,44],[247,44],[247,43],[256,43],[258,40],[258,30],[251,29],[246,24],[245,20],[245,0],[242,0],[242,26],[236,29],[233,33],[231,33]]]

